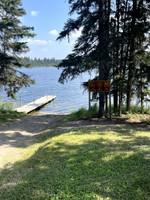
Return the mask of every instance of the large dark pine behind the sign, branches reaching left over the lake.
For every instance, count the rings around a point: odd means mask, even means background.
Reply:
[[[109,76],[108,34],[110,1],[69,0],[70,15],[76,13],[77,19],[69,19],[59,34],[58,40],[70,36],[82,28],[73,53],[64,59],[59,67],[63,68],[59,81],[64,83],[79,74],[96,69],[95,79],[106,80]],[[99,94],[99,117],[104,114],[104,94]]]

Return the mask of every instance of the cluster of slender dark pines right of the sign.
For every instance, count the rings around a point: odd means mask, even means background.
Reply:
[[[141,88],[141,81],[145,80],[142,78],[144,74],[149,73],[148,65],[144,61],[149,45],[149,12],[147,0],[117,1],[111,18],[111,71],[114,107],[117,108],[119,99],[119,114],[122,112],[123,98],[126,100],[127,110],[130,111],[131,98]],[[142,81],[142,88],[147,87],[149,80],[146,80]]]

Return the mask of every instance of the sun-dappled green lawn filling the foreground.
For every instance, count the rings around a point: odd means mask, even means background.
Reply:
[[[150,200],[149,170],[148,129],[58,127],[0,174],[0,199]]]

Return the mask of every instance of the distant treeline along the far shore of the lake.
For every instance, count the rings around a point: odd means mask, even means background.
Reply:
[[[29,58],[29,57],[24,57],[24,60],[30,64],[32,67],[40,67],[40,66],[57,66],[61,60],[55,59],[55,58]]]

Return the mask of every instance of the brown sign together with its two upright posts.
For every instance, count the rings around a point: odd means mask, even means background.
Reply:
[[[91,119],[91,92],[109,92],[109,116],[111,118],[110,80],[94,80],[88,82],[89,88],[89,119]]]

